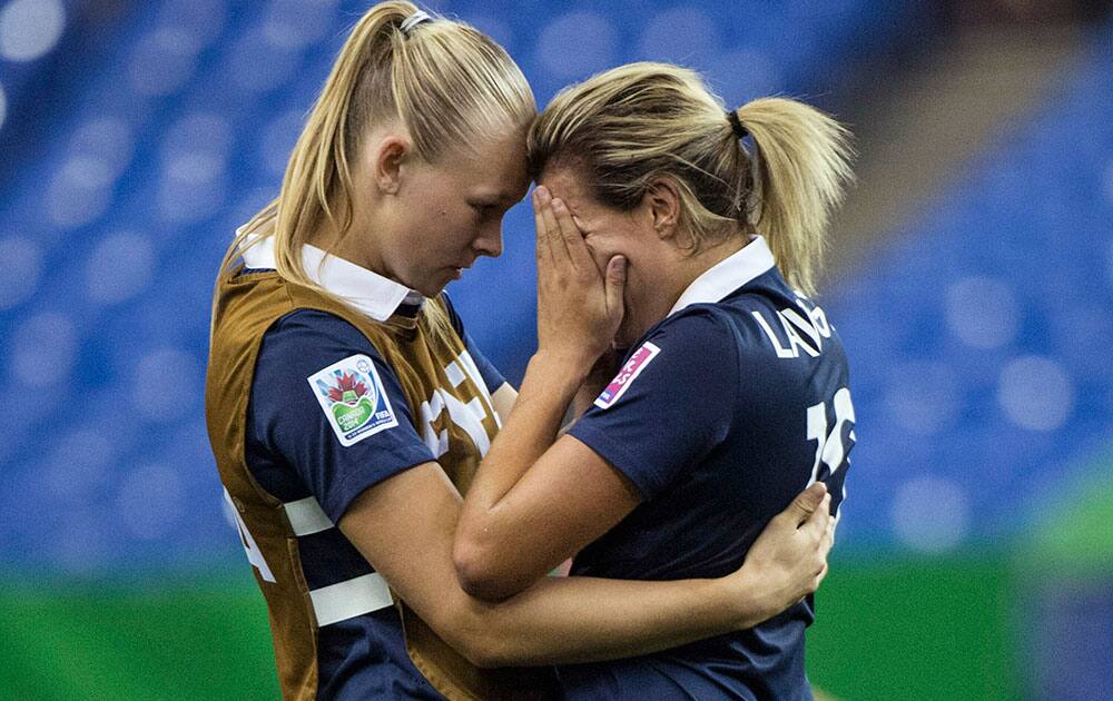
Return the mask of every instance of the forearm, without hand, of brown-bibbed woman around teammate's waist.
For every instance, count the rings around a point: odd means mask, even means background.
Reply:
[[[490,667],[570,664],[649,654],[750,628],[769,611],[729,580],[546,577],[498,604],[470,600]]]

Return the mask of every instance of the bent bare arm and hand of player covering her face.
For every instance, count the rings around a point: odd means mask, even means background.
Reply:
[[[539,349],[469,488],[453,552],[465,591],[490,600],[522,591],[641,502],[626,476],[579,441],[553,445],[621,320],[622,260],[601,276],[571,215],[543,188],[534,217]]]

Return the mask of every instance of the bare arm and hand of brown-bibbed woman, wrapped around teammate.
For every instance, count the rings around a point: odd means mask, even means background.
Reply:
[[[769,546],[756,546],[760,556],[751,551],[728,577],[546,577],[501,603],[474,599],[460,586],[451,551],[461,500],[436,463],[367,490],[339,527],[406,603],[475,664],[583,662],[749,628],[814,591],[830,547],[820,495],[821,487],[812,488],[775,519]]]

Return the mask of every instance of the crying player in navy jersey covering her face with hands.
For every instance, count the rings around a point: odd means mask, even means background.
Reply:
[[[692,71],[634,63],[561,92],[529,149],[539,349],[465,498],[465,591],[513,595],[570,555],[573,575],[720,576],[804,486],[837,509],[847,359],[805,294],[850,177],[843,128],[787,99],[725,111]],[[621,371],[550,446],[612,339],[631,348]],[[812,619],[809,598],[751,630],[564,665],[562,692],[810,699]]]

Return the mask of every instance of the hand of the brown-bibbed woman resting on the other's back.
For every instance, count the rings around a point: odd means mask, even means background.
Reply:
[[[827,575],[835,539],[830,494],[823,482],[801,492],[766,525],[731,575],[741,605],[739,628],[751,628],[808,594]]]

